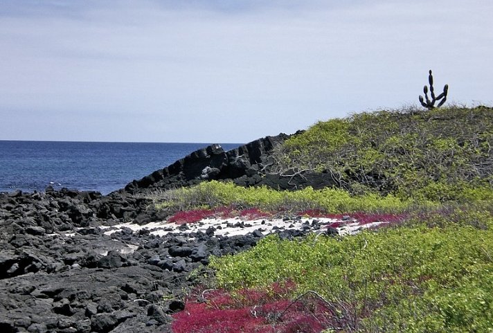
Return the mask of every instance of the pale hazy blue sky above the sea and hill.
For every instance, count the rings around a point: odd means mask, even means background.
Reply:
[[[246,143],[492,105],[491,0],[0,0],[0,140]]]

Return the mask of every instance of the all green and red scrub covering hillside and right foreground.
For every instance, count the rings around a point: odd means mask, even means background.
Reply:
[[[336,188],[211,181],[164,192],[158,206],[174,216],[398,217],[355,236],[271,235],[211,258],[213,276],[174,315],[174,332],[493,332],[492,112],[355,114],[275,152],[278,172],[330,172]]]

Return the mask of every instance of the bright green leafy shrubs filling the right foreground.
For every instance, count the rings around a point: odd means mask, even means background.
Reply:
[[[491,212],[483,218],[493,226]],[[467,220],[446,224],[298,241],[271,236],[211,267],[218,287],[232,291],[280,281],[295,283],[292,298],[316,291],[335,309],[338,332],[492,332],[492,231],[461,226]]]

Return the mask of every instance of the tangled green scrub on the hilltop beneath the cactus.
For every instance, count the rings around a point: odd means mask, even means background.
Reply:
[[[276,152],[279,172],[330,170],[350,192],[401,198],[492,195],[493,109],[378,111],[316,123]]]

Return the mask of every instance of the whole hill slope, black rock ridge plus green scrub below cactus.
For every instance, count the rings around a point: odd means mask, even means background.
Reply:
[[[275,190],[340,188],[402,199],[485,199],[493,185],[493,109],[375,111],[267,136],[235,150],[198,150],[147,177],[132,194],[233,181]]]

